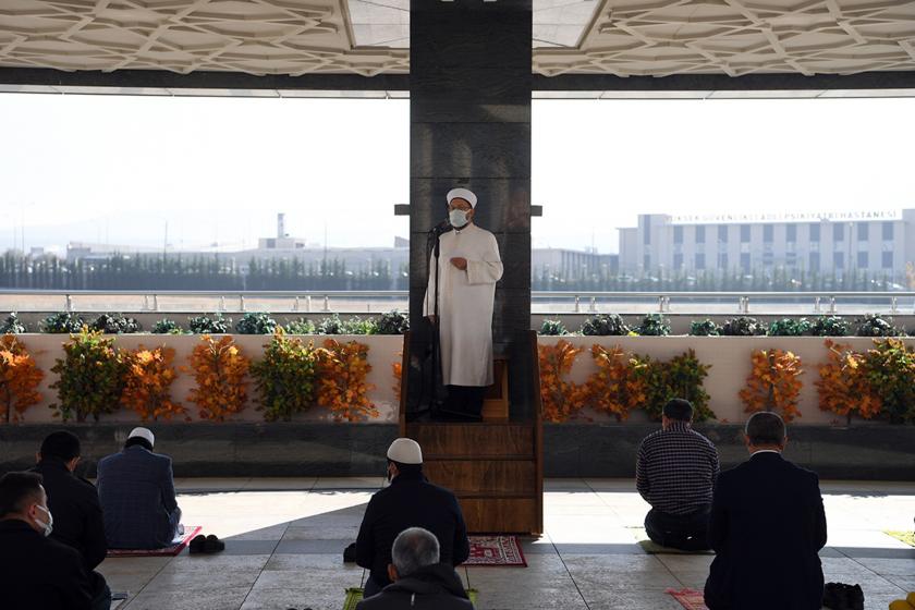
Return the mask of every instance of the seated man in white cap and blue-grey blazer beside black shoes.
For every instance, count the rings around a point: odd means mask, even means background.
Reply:
[[[155,437],[134,428],[123,451],[98,463],[98,495],[112,549],[161,549],[179,533],[171,457],[152,453]]]

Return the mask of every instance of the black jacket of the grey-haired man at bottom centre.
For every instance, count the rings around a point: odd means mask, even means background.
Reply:
[[[473,610],[454,568],[436,563],[388,585],[356,610]]]

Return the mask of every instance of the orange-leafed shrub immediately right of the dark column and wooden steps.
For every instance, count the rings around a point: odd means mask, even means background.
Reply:
[[[560,339],[556,345],[539,345],[537,350],[544,419],[565,422],[585,405],[584,387],[563,379],[583,350],[564,339]]]

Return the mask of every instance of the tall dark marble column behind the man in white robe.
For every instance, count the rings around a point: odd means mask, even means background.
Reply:
[[[510,357],[512,416],[530,408],[532,0],[412,0],[410,25],[411,327],[422,332],[427,232],[444,194],[477,194],[477,224],[496,234],[505,267],[493,342]],[[416,350],[414,350],[416,353]],[[415,371],[413,373],[415,375]]]

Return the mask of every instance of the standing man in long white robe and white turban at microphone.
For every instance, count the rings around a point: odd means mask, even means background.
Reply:
[[[435,322],[438,301],[446,414],[478,420],[492,385],[492,307],[502,260],[496,236],[474,224],[476,195],[452,188],[446,199],[453,231],[439,237],[439,257],[434,253],[429,263],[423,315]]]

